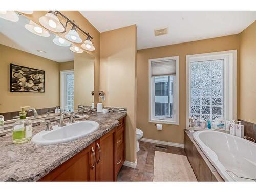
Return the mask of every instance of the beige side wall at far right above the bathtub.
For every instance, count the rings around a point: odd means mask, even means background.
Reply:
[[[256,123],[256,22],[240,33],[239,119]]]

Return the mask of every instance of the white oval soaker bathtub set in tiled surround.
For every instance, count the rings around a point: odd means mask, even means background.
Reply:
[[[197,131],[193,138],[225,181],[256,181],[256,143],[210,130]]]

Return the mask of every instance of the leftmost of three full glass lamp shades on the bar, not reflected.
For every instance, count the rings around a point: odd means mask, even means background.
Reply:
[[[55,11],[49,11],[48,13],[45,14],[45,16],[40,17],[39,22],[46,29],[49,29],[53,32],[61,33],[65,31],[65,28],[60,23],[58,17],[55,14]]]

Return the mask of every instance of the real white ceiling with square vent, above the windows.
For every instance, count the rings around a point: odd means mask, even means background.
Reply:
[[[99,31],[137,25],[137,49],[195,41],[243,31],[256,11],[80,11]],[[168,27],[155,36],[154,29]]]

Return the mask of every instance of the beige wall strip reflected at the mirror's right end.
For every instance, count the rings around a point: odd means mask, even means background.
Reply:
[[[88,53],[74,54],[74,109],[93,102],[94,57]],[[98,95],[98,94],[97,94]]]

